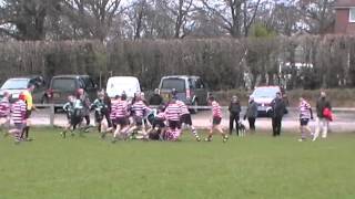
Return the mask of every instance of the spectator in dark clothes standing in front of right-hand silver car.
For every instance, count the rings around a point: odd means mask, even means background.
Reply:
[[[282,118],[286,112],[286,105],[280,92],[276,93],[276,97],[273,100],[271,105],[272,105],[273,136],[276,137],[281,135]]]

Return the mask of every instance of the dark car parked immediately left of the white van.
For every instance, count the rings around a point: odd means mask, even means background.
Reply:
[[[89,75],[58,75],[53,76],[48,91],[43,96],[43,103],[53,103],[61,107],[69,95],[75,95],[79,88],[83,88],[91,102],[98,94],[98,85]]]

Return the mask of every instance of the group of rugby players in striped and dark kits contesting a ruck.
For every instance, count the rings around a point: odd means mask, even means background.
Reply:
[[[204,140],[211,142],[214,130],[217,130],[223,142],[226,142],[229,137],[221,127],[221,106],[213,96],[209,97],[209,103],[212,106],[213,119],[210,134]],[[68,125],[61,133],[63,138],[68,133],[74,135],[78,132],[79,135],[82,135],[89,127],[89,125],[81,126],[82,122],[88,117],[90,111],[94,111],[95,124],[101,138],[112,133],[112,143],[132,138],[175,142],[180,139],[183,128],[189,128],[194,138],[197,142],[201,140],[192,124],[189,107],[176,97],[174,92],[171,93],[166,104],[150,107],[141,93],[136,93],[129,101],[125,93],[110,98],[104,91],[101,91],[92,104],[88,97],[69,96],[63,109],[68,116]]]

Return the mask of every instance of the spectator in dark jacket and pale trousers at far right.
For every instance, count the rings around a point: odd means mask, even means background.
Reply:
[[[317,101],[316,104],[316,111],[317,111],[317,119],[316,119],[316,129],[314,133],[313,142],[316,140],[316,138],[320,136],[321,129],[322,129],[322,138],[326,138],[328,133],[328,125],[329,119],[325,117],[324,111],[328,108],[332,109],[331,103],[326,97],[325,92],[321,92],[321,97]]]

